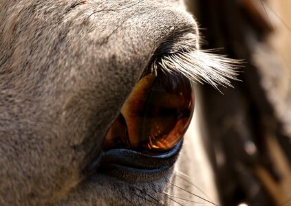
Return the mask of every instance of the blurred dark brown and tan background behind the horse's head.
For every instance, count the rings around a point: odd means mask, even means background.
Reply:
[[[232,88],[200,88],[222,205],[291,205],[291,1],[188,0],[202,49],[244,60]]]

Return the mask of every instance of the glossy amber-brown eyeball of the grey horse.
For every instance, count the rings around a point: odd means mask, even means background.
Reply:
[[[193,108],[193,91],[187,78],[162,71],[149,73],[123,104],[103,148],[171,150],[186,132]]]

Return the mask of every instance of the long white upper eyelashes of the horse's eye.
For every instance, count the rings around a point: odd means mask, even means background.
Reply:
[[[238,80],[237,68],[241,67],[241,62],[208,51],[193,51],[164,56],[160,61],[153,62],[152,68],[155,71],[159,67],[165,72],[179,72],[191,82],[206,82],[218,89],[219,85],[233,87],[230,80]]]

